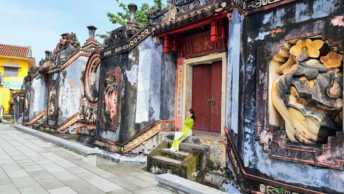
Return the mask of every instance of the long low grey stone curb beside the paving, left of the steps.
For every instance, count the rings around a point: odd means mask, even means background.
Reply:
[[[61,147],[64,147],[68,150],[71,150],[73,152],[76,152],[78,154],[84,155],[84,156],[95,156],[98,153],[98,149],[88,147],[76,142],[72,142],[69,140],[62,139],[60,137],[56,137],[54,135],[50,135],[44,132],[40,132],[34,129],[31,129],[29,127],[23,126],[23,125],[11,125],[15,129],[18,129],[20,131],[23,131],[25,133],[29,133],[33,136],[40,137],[43,140],[46,140],[48,142],[54,143],[56,145],[59,145]]]

